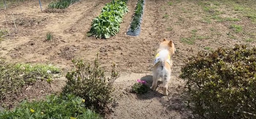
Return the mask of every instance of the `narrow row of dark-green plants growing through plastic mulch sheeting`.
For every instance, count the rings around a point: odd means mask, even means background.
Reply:
[[[143,13],[144,0],[138,0],[137,6],[135,8],[135,13],[131,23],[131,31],[134,32],[140,27],[140,18]]]

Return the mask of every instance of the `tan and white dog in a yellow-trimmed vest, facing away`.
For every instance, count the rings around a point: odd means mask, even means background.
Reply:
[[[157,86],[157,81],[159,78],[162,78],[163,81],[163,95],[168,95],[168,83],[171,78],[171,67],[172,60],[171,56],[176,51],[174,47],[173,41],[167,41],[165,38],[163,39],[160,47],[157,50],[157,55],[154,60],[153,67],[153,83],[150,87],[151,90],[155,90]]]

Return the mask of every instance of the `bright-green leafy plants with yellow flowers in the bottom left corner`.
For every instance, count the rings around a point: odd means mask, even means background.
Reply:
[[[84,108],[84,100],[74,95],[47,96],[46,100],[24,101],[14,110],[0,112],[0,119],[102,119]]]

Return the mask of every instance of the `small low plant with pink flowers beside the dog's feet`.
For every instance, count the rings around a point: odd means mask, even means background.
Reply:
[[[146,81],[137,80],[137,83],[135,83],[132,86],[132,92],[136,92],[137,94],[144,94],[148,91],[148,86],[146,85]]]

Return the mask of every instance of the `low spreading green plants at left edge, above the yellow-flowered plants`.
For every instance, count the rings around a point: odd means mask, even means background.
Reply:
[[[22,91],[25,84],[52,78],[59,72],[59,68],[50,65],[12,64],[0,59],[0,100]]]

